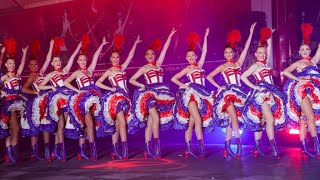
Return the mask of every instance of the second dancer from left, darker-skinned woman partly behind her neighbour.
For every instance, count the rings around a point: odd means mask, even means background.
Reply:
[[[41,67],[40,71],[38,71],[38,51],[40,50],[40,43],[38,41],[34,41],[31,45],[31,57],[29,61],[28,68],[31,72],[27,81],[24,83],[22,87],[22,92],[25,94],[29,94],[30,98],[27,102],[26,108],[26,118],[27,123],[29,125],[29,129],[21,131],[22,135],[31,136],[31,147],[32,147],[32,155],[31,159],[38,159],[42,160],[39,152],[38,152],[38,135],[40,133],[39,125],[40,122],[45,119],[45,111],[41,110],[41,108],[45,108],[42,101],[39,101],[38,95],[40,94],[39,85],[44,79],[44,73],[50,63],[51,56],[52,56],[52,48],[53,48],[53,40],[50,41],[49,51],[46,57],[46,61],[44,62],[43,66]],[[43,113],[40,113],[40,112]],[[41,115],[40,115],[41,114]],[[50,141],[50,133],[44,131],[43,132],[43,139],[45,143],[45,159],[47,161],[51,161],[50,157],[50,150],[49,150],[49,141]]]

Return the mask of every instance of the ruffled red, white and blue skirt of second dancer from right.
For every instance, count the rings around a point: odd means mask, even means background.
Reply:
[[[277,86],[266,82],[259,82],[257,86],[263,88],[264,91],[252,89],[247,97],[243,109],[246,128],[251,131],[263,130],[261,106],[267,102],[275,120],[275,130],[282,130],[286,125],[286,95]]]

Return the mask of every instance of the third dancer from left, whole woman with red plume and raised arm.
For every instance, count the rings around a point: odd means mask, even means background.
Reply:
[[[62,69],[61,60],[59,57],[60,48],[64,46],[64,40],[56,37],[54,38],[53,45],[53,58],[51,60],[51,65],[54,71],[50,72],[45,76],[43,81],[39,85],[40,90],[52,90],[47,98],[47,118],[50,122],[50,131],[56,133],[55,144],[52,152],[52,159],[58,159],[61,161],[66,161],[66,151],[64,146],[64,127],[66,119],[68,118],[67,113],[67,101],[69,95],[72,93],[63,85],[63,81],[66,75],[69,73],[72,63],[78,54],[81,42],[79,43],[76,50],[73,52],[67,65]],[[50,85],[46,85],[48,82]]]

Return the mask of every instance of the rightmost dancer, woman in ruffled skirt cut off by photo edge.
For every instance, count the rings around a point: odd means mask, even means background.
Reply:
[[[291,124],[300,129],[301,153],[320,158],[320,143],[317,130],[320,130],[320,44],[315,56],[310,57],[311,24],[302,24],[303,43],[299,48],[301,59],[283,71],[289,79],[284,86],[287,94],[287,114]],[[299,127],[300,126],[300,127]],[[314,142],[315,155],[306,145],[307,127]]]

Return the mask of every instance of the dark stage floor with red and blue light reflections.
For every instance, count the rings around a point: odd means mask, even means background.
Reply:
[[[194,146],[196,149],[197,146]],[[253,146],[243,147],[243,157],[224,158],[222,145],[207,145],[207,158],[185,159],[183,145],[162,147],[163,159],[144,160],[143,147],[129,144],[128,161],[111,161],[110,152],[99,148],[96,162],[78,161],[76,148],[68,149],[67,162],[30,161],[0,164],[1,179],[320,179],[320,159],[302,158],[298,148],[279,147],[282,158],[254,158]],[[266,154],[270,148],[264,146]],[[107,156],[108,155],[108,156]]]

